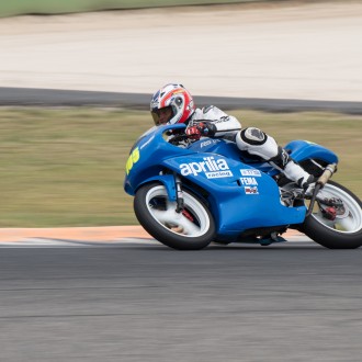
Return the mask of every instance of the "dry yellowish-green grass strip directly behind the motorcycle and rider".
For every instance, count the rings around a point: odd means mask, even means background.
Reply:
[[[362,116],[333,113],[230,112],[283,145],[320,143],[340,157],[336,181],[362,194]],[[123,191],[135,139],[148,112],[110,109],[0,110],[0,227],[137,224]]]

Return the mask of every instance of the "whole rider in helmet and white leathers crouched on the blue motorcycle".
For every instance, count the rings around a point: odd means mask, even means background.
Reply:
[[[305,190],[315,182],[273,137],[256,127],[241,128],[236,117],[214,105],[196,109],[182,84],[169,83],[159,89],[151,99],[150,112],[156,125],[184,123],[185,134],[191,139],[207,136],[234,140],[240,150],[261,157]]]

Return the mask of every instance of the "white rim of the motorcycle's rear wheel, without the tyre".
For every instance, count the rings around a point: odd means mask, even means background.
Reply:
[[[343,202],[343,210],[339,211],[333,220],[325,217],[321,207],[316,203],[312,213],[319,224],[341,234],[353,234],[362,228],[362,211],[360,204],[346,191],[327,183],[318,196],[337,197]]]

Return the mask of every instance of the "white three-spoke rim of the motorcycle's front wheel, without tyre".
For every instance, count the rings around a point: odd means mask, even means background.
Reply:
[[[150,189],[146,206],[155,220],[169,231],[184,237],[199,237],[210,229],[210,217],[201,202],[183,192],[184,212],[177,213],[177,203],[168,199],[165,186]]]

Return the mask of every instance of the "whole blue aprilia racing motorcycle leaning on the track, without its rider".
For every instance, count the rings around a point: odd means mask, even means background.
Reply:
[[[212,241],[268,246],[286,241],[289,229],[329,249],[362,245],[362,203],[330,180],[338,157],[306,140],[284,148],[317,178],[307,194],[281,171],[244,155],[235,143],[203,137],[191,142],[184,124],[152,127],[132,147],[124,190],[134,196],[139,224],[178,250]]]

